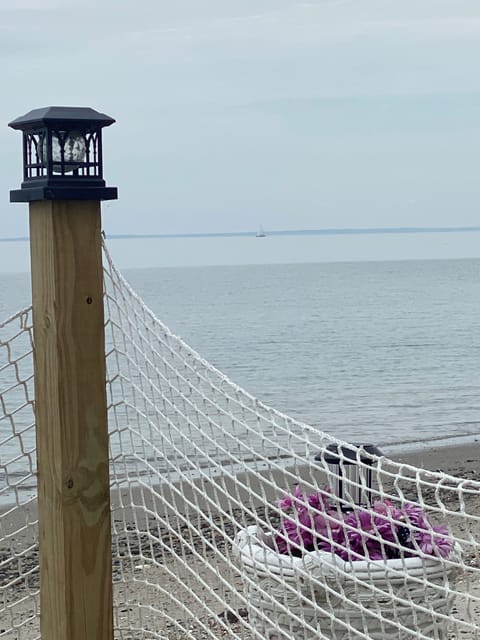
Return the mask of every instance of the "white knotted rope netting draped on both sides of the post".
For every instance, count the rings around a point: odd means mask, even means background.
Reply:
[[[479,482],[265,406],[108,253],[105,309],[116,637],[480,638]],[[40,637],[32,348],[30,309],[0,324],[0,638],[18,640]]]

